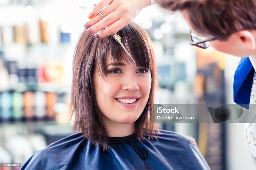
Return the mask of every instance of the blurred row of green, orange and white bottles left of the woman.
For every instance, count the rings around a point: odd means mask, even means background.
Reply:
[[[43,91],[0,92],[0,121],[55,120],[55,105],[63,103],[64,93]]]

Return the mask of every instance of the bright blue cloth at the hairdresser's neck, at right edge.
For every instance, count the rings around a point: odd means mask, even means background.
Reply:
[[[242,57],[234,75],[234,102],[249,109],[254,68],[249,57]]]

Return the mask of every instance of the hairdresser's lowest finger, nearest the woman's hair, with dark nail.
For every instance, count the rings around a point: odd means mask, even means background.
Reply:
[[[124,26],[128,25],[130,22],[119,19],[112,23],[108,28],[101,30],[93,35],[94,38],[104,38],[109,35],[113,35],[121,30]]]

